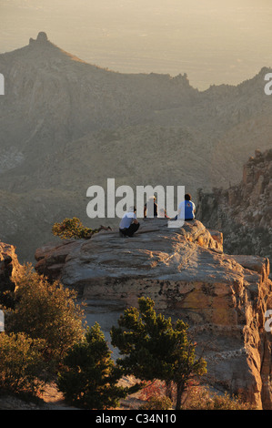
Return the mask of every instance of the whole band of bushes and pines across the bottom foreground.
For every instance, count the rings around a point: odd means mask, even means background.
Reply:
[[[111,329],[115,362],[99,324],[86,326],[76,293],[59,281],[49,282],[25,265],[5,311],[0,333],[0,390],[33,400],[47,382],[55,382],[66,403],[83,409],[115,409],[133,392],[146,410],[190,408],[243,409],[247,404],[228,395],[199,389],[207,372],[196,357],[188,326],[156,314],[154,301],[141,298]],[[137,379],[130,387],[121,379]],[[196,388],[197,386],[197,388]]]

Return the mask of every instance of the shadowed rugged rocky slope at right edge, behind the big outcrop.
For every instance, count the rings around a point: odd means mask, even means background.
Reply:
[[[228,253],[258,254],[272,260],[272,149],[256,150],[237,186],[213,193],[200,191],[197,219],[223,231]]]

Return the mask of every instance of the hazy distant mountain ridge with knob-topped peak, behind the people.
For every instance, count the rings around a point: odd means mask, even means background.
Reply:
[[[100,224],[86,216],[92,184],[183,185],[196,197],[198,188],[236,184],[256,148],[271,147],[268,68],[237,87],[200,92],[186,74],[87,64],[41,32],[1,54],[0,71],[0,234],[22,260],[33,258],[55,221],[76,215]]]

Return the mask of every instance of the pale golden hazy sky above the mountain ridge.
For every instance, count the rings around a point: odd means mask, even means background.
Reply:
[[[0,52],[45,31],[91,64],[199,89],[272,66],[272,0],[0,0],[0,15]]]

